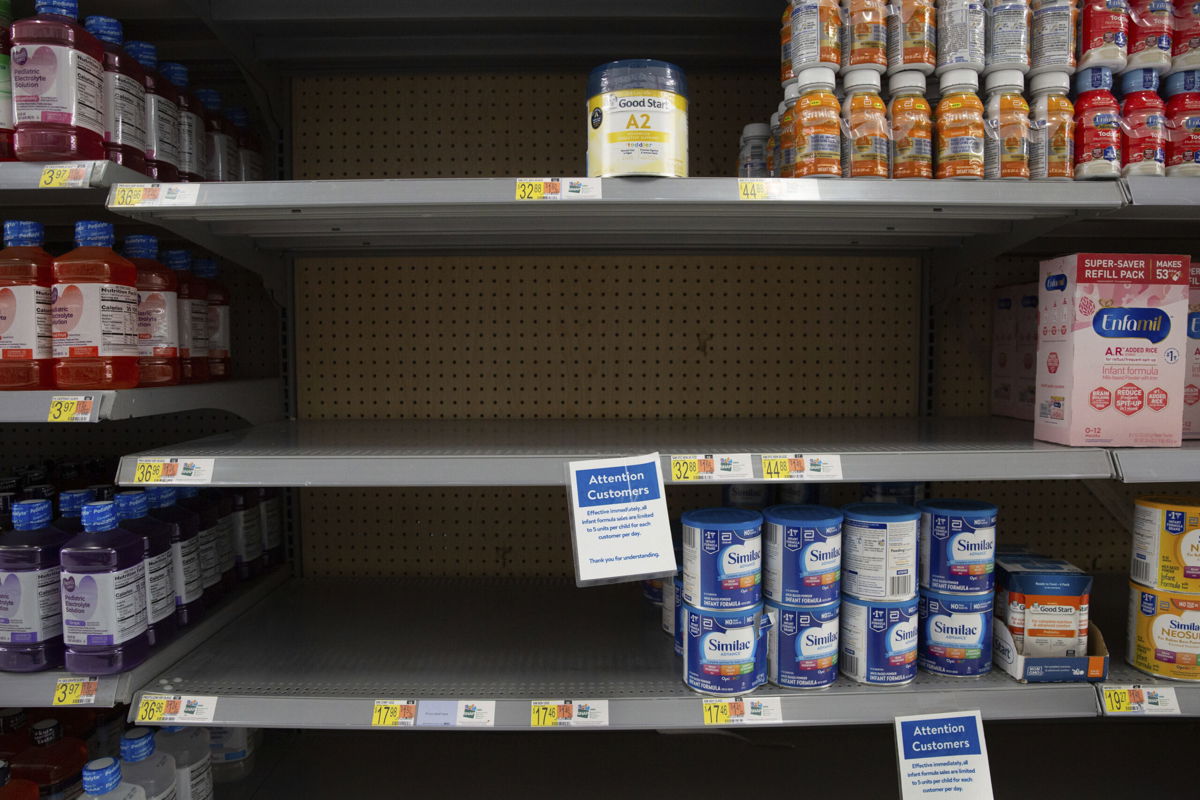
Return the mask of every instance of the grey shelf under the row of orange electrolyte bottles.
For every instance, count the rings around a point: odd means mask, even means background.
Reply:
[[[157,389],[104,391],[47,390],[0,392],[0,423],[46,422],[55,398],[82,397],[91,411],[83,422],[132,420],[179,411],[220,410],[236,414],[251,425],[283,417],[283,386],[277,378],[228,380]]]

